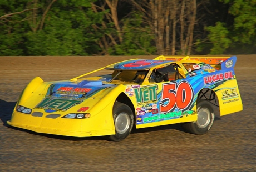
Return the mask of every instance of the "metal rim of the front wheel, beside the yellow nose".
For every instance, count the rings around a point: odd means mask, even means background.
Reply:
[[[127,113],[117,115],[115,119],[115,128],[117,133],[124,134],[130,126],[130,118]]]

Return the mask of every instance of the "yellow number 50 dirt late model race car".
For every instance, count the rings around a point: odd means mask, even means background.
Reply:
[[[7,123],[37,133],[112,141],[125,139],[134,126],[181,123],[189,133],[205,134],[213,125],[214,109],[220,115],[243,109],[236,61],[235,56],[159,56],[111,64],[70,80],[36,77]],[[100,70],[108,74],[88,77]]]

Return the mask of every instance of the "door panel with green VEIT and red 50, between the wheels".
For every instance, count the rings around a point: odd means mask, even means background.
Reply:
[[[136,128],[191,122],[197,119],[196,99],[186,79],[126,87],[135,105]]]

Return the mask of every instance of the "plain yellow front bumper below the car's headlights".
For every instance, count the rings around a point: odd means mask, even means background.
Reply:
[[[31,114],[14,112],[11,120],[7,124],[23,128],[37,133],[88,137],[114,135],[115,128],[109,120],[96,118],[68,119],[68,118],[47,118],[47,114],[42,117],[34,117]]]

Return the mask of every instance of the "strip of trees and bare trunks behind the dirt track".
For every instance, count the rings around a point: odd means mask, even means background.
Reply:
[[[0,55],[255,54],[255,0],[0,0]]]

